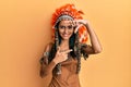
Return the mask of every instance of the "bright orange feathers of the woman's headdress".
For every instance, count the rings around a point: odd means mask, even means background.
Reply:
[[[58,22],[69,18],[69,20],[83,20],[81,14],[84,14],[82,11],[75,9],[74,4],[66,4],[56,10],[52,14],[51,25],[52,25],[52,39],[55,39],[55,30]],[[79,28],[80,42],[85,44],[87,41],[87,30],[85,26]]]

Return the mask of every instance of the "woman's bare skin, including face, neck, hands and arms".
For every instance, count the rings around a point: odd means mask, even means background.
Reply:
[[[91,48],[90,48],[90,50],[85,49],[85,52],[87,52],[87,54],[96,54],[96,53],[102,52],[100,42],[99,42],[95,32],[93,30],[93,28],[91,28],[91,26],[88,25],[87,21],[85,21],[85,20],[76,20],[76,21],[63,20],[60,22],[59,28],[58,28],[59,34],[62,38],[61,44],[58,47],[57,53],[56,53],[53,60],[51,61],[51,63],[49,63],[46,67],[43,69],[43,71],[48,70],[48,67],[51,69],[49,72],[47,72],[44,75],[47,75],[48,73],[50,73],[58,63],[63,62],[68,59],[68,53],[72,51],[72,49],[69,49],[69,39],[72,36],[72,34],[76,33],[79,27],[83,26],[83,25],[86,26],[87,32],[90,34],[90,38],[91,38]],[[78,27],[74,29],[71,26],[78,26]],[[45,52],[46,51],[48,52],[49,49],[50,49],[50,45],[48,45],[46,47]],[[63,50],[66,50],[66,51],[63,51]],[[51,65],[52,63],[55,63],[55,65]]]

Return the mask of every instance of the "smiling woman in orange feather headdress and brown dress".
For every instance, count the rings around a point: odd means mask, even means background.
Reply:
[[[40,59],[40,76],[52,73],[49,87],[81,87],[79,72],[81,58],[102,52],[99,40],[82,11],[74,4],[66,4],[52,15],[55,41],[46,46]],[[90,36],[91,45],[86,45]]]

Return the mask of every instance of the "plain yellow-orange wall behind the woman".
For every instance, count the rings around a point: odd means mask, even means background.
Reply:
[[[51,39],[51,14],[64,3],[84,11],[104,48],[82,60],[82,87],[131,87],[130,0],[1,0],[0,87],[47,87],[38,60]]]

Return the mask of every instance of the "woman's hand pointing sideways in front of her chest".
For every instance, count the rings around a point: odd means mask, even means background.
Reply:
[[[53,62],[56,64],[60,63],[60,62],[63,62],[68,59],[68,53],[71,52],[72,50],[66,50],[66,51],[62,51],[61,52],[61,49],[60,47],[58,47],[58,50],[57,50],[57,53],[56,53],[56,57],[53,59]]]

